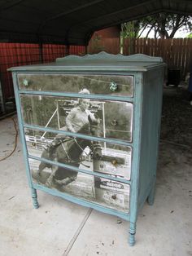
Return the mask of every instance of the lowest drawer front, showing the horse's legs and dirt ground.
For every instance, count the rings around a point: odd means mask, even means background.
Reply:
[[[39,166],[40,161],[29,159],[29,168],[33,177],[33,183],[37,181],[34,174],[35,166]],[[58,166],[54,166],[54,170],[60,170]],[[67,170],[65,170],[67,171]],[[101,179],[91,174],[77,173],[68,170],[68,177],[60,180],[54,179],[50,182],[50,172],[41,175],[44,186],[54,188],[59,192],[64,192],[77,199],[94,202],[113,210],[119,210],[124,213],[129,212],[129,185],[112,181],[110,179]],[[56,175],[55,175],[56,176]],[[58,178],[56,176],[56,178]],[[42,183],[41,183],[42,185]]]

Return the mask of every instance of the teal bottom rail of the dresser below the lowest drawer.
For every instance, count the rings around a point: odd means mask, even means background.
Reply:
[[[36,188],[36,189],[39,189],[43,192],[47,192],[47,193],[49,193],[53,196],[62,197],[63,199],[71,201],[71,202],[76,203],[78,205],[93,208],[94,210],[98,210],[98,211],[103,212],[105,214],[115,215],[117,217],[120,217],[120,218],[123,218],[124,220],[129,221],[129,213],[124,213],[124,212],[120,212],[120,211],[117,211],[117,210],[112,210],[112,209],[107,208],[105,206],[98,205],[97,203],[93,203],[91,201],[85,201],[81,198],[77,199],[76,196],[70,196],[70,195],[68,195],[67,193],[64,193],[64,192],[59,192],[55,189],[46,188],[46,187],[43,187],[43,186],[41,186],[37,183],[33,183],[33,187]]]

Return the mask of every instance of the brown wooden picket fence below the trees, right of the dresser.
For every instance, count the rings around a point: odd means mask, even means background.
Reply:
[[[124,40],[124,55],[142,53],[162,57],[168,68],[181,70],[181,77],[192,68],[192,39],[151,39]]]

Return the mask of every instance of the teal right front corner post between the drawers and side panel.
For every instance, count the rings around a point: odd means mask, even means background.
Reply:
[[[139,164],[141,148],[141,119],[142,119],[142,73],[135,76],[134,90],[135,105],[133,108],[133,152],[132,152],[132,170],[131,170],[131,190],[130,190],[130,222],[137,221],[138,212],[138,184],[139,184]]]

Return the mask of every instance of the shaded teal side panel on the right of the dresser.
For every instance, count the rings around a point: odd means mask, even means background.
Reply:
[[[154,198],[162,105],[162,97],[159,97],[159,95],[162,95],[163,90],[163,86],[161,86],[159,81],[163,80],[163,75],[162,69],[156,69],[153,72],[149,71],[143,74],[141,167],[138,185],[140,208],[143,201],[146,201],[147,196],[150,195],[150,204],[152,204]],[[159,80],[156,78],[158,76],[161,77]]]

